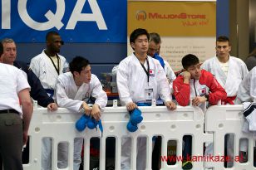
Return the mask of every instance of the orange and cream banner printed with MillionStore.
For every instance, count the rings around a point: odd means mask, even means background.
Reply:
[[[180,60],[187,53],[199,56],[201,61],[214,56],[215,1],[128,1],[127,22],[128,36],[139,27],[160,34],[160,56],[173,70],[180,70]],[[128,52],[132,52],[130,45]]]

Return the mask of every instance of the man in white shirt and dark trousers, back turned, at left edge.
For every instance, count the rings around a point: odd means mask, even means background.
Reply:
[[[2,43],[0,55],[2,56]],[[3,168],[22,170],[22,146],[27,143],[32,116],[30,86],[22,70],[2,64],[2,61],[0,80],[0,153]]]

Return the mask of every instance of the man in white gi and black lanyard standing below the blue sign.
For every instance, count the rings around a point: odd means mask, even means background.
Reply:
[[[62,37],[54,31],[47,32],[47,49],[32,58],[30,68],[37,75],[42,87],[53,97],[58,75],[63,73],[66,59],[59,55]],[[52,169],[52,138],[42,139],[42,170]]]

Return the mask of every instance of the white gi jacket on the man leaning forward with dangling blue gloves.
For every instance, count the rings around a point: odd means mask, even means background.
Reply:
[[[79,112],[82,102],[89,100],[90,96],[96,98],[95,104],[101,109],[104,109],[107,103],[106,92],[102,90],[101,82],[96,75],[91,75],[90,83],[83,83],[80,87],[76,86],[71,72],[59,75],[55,95],[60,107],[75,112]]]

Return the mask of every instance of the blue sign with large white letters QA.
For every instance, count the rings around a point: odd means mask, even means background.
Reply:
[[[126,0],[2,0],[0,39],[45,42],[47,32],[66,42],[126,42]]]

